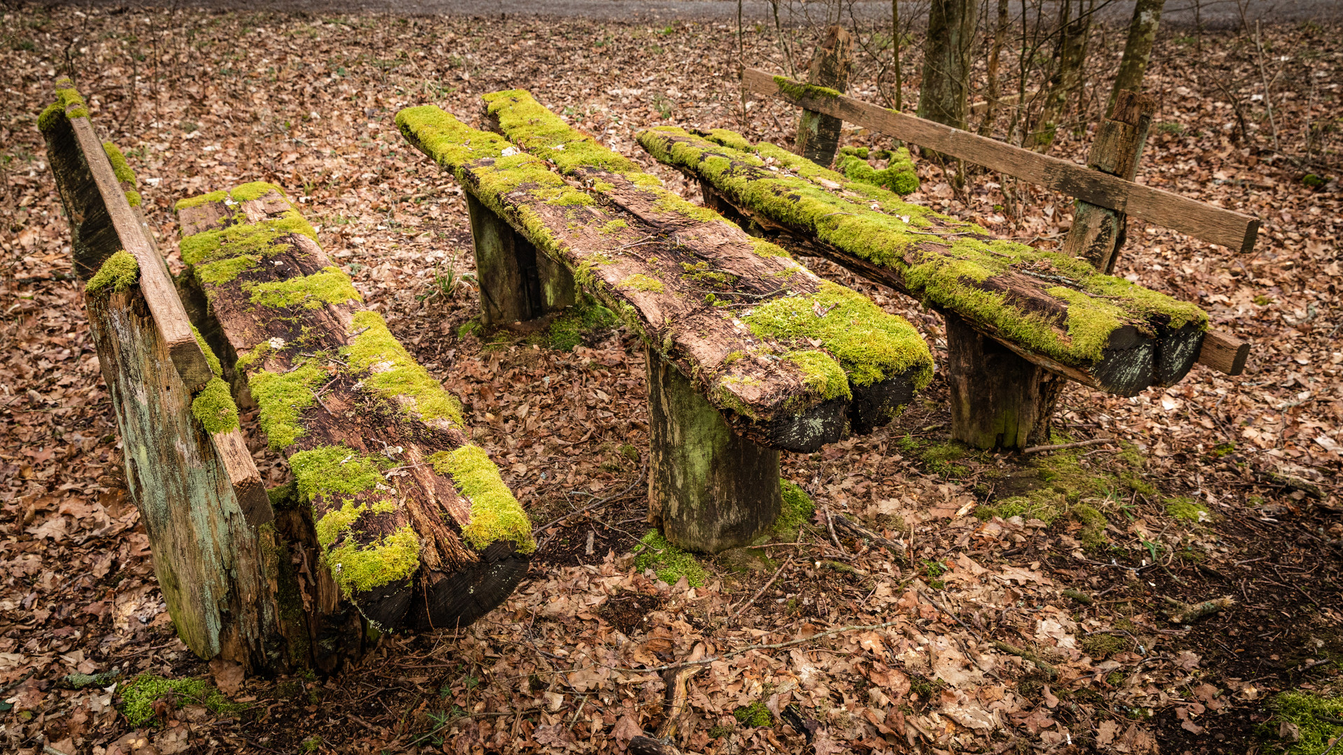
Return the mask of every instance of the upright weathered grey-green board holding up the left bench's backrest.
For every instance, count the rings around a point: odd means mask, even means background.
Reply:
[[[90,330],[111,394],[126,480],[179,637],[201,658],[266,666],[275,633],[257,531],[247,525],[211,438],[191,414],[137,287],[87,298]]]

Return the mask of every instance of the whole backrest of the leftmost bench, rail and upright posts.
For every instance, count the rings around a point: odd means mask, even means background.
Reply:
[[[273,508],[214,352],[195,332],[136,212],[134,173],[94,136],[68,81],[39,118],[75,274],[177,635],[254,672],[333,669],[360,653],[357,614],[316,564],[312,525]],[[314,567],[316,568],[316,567]]]

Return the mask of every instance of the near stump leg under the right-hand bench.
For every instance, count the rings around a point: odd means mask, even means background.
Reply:
[[[952,438],[976,449],[1048,443],[1064,379],[1017,356],[960,317],[944,312],[943,318]]]

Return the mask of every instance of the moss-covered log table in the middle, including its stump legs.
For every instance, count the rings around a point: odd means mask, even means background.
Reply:
[[[467,188],[482,310],[561,287],[492,278],[545,259],[643,339],[650,513],[670,541],[717,552],[755,540],[779,515],[779,450],[870,431],[929,380],[928,347],[904,320],[666,191],[529,94],[486,107],[508,138],[432,106],[396,122]]]

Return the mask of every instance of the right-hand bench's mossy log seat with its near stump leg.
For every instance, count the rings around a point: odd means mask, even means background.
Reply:
[[[1085,261],[994,238],[772,144],[716,129],[641,132],[657,160],[705,185],[739,222],[833,259],[947,320],[954,437],[1021,447],[1049,433],[1066,378],[1121,396],[1180,380],[1199,356],[1197,306]]]

